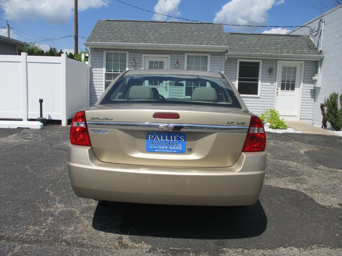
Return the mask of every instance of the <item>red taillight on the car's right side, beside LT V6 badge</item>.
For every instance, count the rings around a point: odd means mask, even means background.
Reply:
[[[252,116],[242,152],[265,151],[265,147],[266,133],[264,125],[258,116]]]

